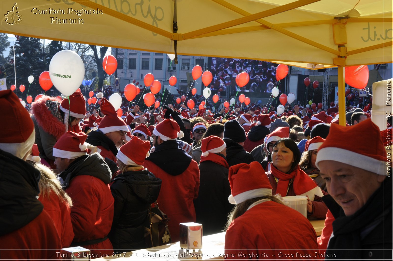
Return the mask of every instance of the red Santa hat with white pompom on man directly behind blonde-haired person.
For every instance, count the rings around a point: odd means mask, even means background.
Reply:
[[[87,155],[86,138],[84,132],[67,131],[53,146],[53,157],[74,159]]]

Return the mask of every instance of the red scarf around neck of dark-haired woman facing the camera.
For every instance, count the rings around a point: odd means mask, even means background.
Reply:
[[[294,179],[293,187],[296,195],[306,193],[317,186],[312,178],[300,169],[299,165],[291,173],[287,174],[279,171],[273,164],[270,164],[270,172],[279,180],[275,193],[280,194],[282,197],[286,196],[286,191],[292,178]]]

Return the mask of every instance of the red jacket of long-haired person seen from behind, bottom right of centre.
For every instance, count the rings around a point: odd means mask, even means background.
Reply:
[[[226,259],[313,260],[316,249],[310,222],[298,211],[273,201],[247,210],[231,222],[225,235]]]

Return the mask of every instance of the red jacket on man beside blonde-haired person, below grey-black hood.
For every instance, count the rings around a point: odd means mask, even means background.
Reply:
[[[72,178],[66,192],[73,201],[71,222],[74,242],[102,239],[112,226],[114,199],[109,184],[99,178],[80,175]],[[79,245],[79,244],[78,244]],[[80,245],[92,250],[92,254],[110,254],[113,247],[109,239],[96,244]]]

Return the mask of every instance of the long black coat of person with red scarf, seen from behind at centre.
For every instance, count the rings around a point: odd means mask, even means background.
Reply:
[[[194,200],[196,222],[203,225],[203,235],[220,233],[228,213],[235,205],[228,201],[231,187],[228,169],[212,161],[198,165],[200,170],[199,194]]]

